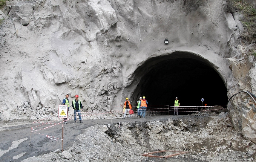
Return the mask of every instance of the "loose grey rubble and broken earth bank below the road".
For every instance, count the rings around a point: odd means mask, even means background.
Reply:
[[[22,162],[213,162],[255,159],[255,144],[245,140],[240,131],[234,130],[228,112],[186,116],[148,115],[146,118],[134,115],[131,120],[127,119],[84,120],[83,124],[87,126],[81,132],[75,135],[65,133],[68,145],[62,153],[59,147]],[[74,131],[72,127],[69,128],[71,131]],[[167,159],[141,156],[159,150],[187,153]],[[165,155],[169,154],[173,153],[165,152]],[[163,153],[154,155],[164,156]]]

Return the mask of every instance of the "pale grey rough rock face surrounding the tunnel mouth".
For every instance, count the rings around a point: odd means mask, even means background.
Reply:
[[[56,111],[66,93],[71,100],[78,94],[87,111],[113,110],[125,96],[138,98],[144,69],[171,58],[213,68],[228,98],[240,90],[256,94],[255,58],[250,47],[239,46],[239,15],[224,13],[221,2],[186,14],[182,0],[6,1],[0,12],[1,116],[17,119],[12,110],[25,102],[31,110]],[[256,142],[253,109],[247,95],[237,96],[230,117]]]

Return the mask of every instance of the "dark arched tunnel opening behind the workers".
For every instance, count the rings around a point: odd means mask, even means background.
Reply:
[[[138,70],[140,72],[135,72],[134,79],[139,80],[136,75],[141,79],[132,94],[134,105],[143,96],[149,106],[174,105],[176,97],[181,106],[227,104],[227,88],[221,76],[207,60],[192,53],[176,52],[154,57]],[[204,98],[203,103],[201,98]]]

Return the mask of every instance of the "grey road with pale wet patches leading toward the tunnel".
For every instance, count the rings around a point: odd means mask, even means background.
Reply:
[[[77,124],[70,120],[67,124],[64,124],[64,136],[63,136],[63,150],[66,150],[75,141],[75,137],[81,134],[83,129],[97,124],[115,124],[119,122],[135,122],[135,121],[155,121],[164,120],[168,118],[184,118],[184,116],[168,116],[168,115],[152,115],[146,116],[146,118],[132,117],[131,119],[118,118],[118,119],[97,119],[97,120],[83,120],[83,123],[79,121]],[[192,117],[192,116],[190,116]],[[57,122],[54,122],[57,123]],[[8,122],[6,124],[0,124],[0,161],[1,162],[20,162],[28,157],[38,156],[46,154],[51,151],[61,150],[61,138],[62,138],[62,125],[58,124],[52,127],[52,124],[40,123],[32,124],[31,122]],[[31,133],[31,127],[34,129],[43,130],[36,131],[37,133]],[[38,134],[40,133],[40,134]],[[43,135],[44,134],[44,135]],[[53,136],[54,139],[47,138],[45,135]]]

